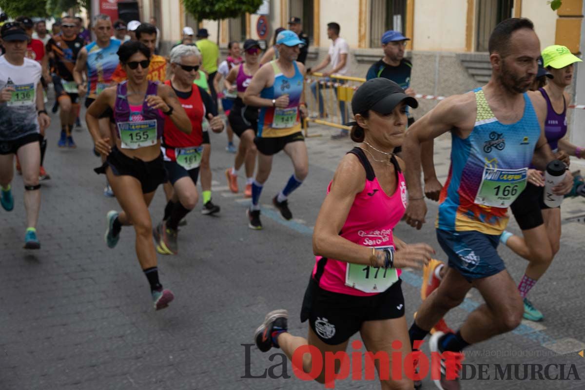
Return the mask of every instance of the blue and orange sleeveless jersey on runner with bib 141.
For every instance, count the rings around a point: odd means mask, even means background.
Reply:
[[[274,84],[262,89],[260,97],[277,99],[288,94],[288,106],[285,109],[262,107],[258,120],[258,137],[285,137],[301,131],[299,103],[301,102],[304,78],[298,70],[297,61],[293,61],[294,76],[286,77],[276,61],[270,61],[274,69]],[[296,113],[296,114],[295,114]]]

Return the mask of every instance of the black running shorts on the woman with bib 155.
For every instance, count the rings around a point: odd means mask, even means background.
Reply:
[[[143,161],[140,158],[128,157],[118,147],[114,146],[104,164],[95,168],[97,174],[105,174],[110,167],[116,176],[132,176],[140,181],[142,193],[149,194],[167,181],[167,171],[164,169],[163,154],[151,161]]]

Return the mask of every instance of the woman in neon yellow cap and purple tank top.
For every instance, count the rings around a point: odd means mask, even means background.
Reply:
[[[583,149],[563,139],[567,133],[566,114],[567,104],[570,102],[565,89],[573,81],[573,64],[580,61],[565,46],[553,45],[542,51],[543,67],[552,75],[548,84],[538,89],[547,106],[545,136],[550,149],[566,164],[569,164],[569,156],[585,157]],[[542,71],[544,70],[539,70],[539,74]],[[528,170],[526,188],[510,206],[518,226],[522,229],[522,237],[504,230],[500,241],[529,261],[518,290],[524,299],[524,318],[541,321],[542,313],[532,305],[526,295],[544,275],[559,251],[560,208],[551,209],[545,205],[543,172],[533,168]]]

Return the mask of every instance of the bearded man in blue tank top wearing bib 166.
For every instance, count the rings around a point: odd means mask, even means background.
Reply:
[[[420,229],[426,205],[420,182],[421,143],[443,133],[452,136],[451,167],[439,200],[437,239],[448,255],[449,269],[435,293],[417,310],[409,330],[411,342],[423,340],[446,312],[473,287],[484,305],[474,310],[456,333],[435,332],[432,352],[448,351],[457,371],[461,351],[470,344],[510,332],[524,313],[514,280],[497,253],[508,223],[508,206],[526,187],[532,163],[543,170],[553,155],[543,131],[546,102],[528,92],[538,69],[540,43],[528,19],[498,24],[489,41],[491,80],[463,95],[450,96],[412,125],[404,143],[410,203],[406,221]],[[566,194],[566,177],[553,192]],[[459,378],[448,380],[441,362],[439,388],[459,389]]]

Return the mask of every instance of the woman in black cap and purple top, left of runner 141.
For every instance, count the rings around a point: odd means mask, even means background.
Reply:
[[[238,153],[233,161],[233,167],[225,171],[230,191],[238,192],[238,171],[242,164],[246,164],[246,198],[252,197],[252,182],[254,181],[254,165],[256,165],[256,145],[254,137],[258,130],[258,108],[247,106],[242,101],[250,80],[260,69],[260,43],[254,39],[246,39],[244,42],[245,61],[232,68],[225,79],[226,91],[236,92],[238,97],[229,113],[228,121],[233,132],[240,139]]]

